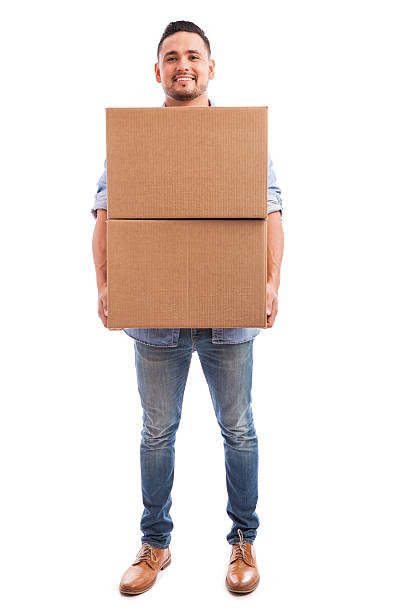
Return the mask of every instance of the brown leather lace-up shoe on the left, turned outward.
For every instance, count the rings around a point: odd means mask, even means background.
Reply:
[[[171,563],[169,548],[153,548],[143,543],[136,560],[122,576],[119,590],[126,595],[138,595],[150,589],[156,582],[157,574]]]

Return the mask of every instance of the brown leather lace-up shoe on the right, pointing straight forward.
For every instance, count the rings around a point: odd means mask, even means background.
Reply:
[[[244,542],[242,531],[238,529],[239,542],[232,544],[230,562],[225,579],[232,593],[251,593],[259,583],[255,549],[251,542]]]

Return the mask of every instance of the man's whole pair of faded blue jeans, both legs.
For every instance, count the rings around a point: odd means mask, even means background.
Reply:
[[[259,526],[258,438],[251,405],[253,339],[213,344],[211,329],[180,329],[178,346],[157,347],[135,341],[137,383],[143,408],[140,468],[144,511],[142,542],[167,548],[174,478],[174,443],[193,351],[197,351],[224,438],[227,541],[253,542]]]

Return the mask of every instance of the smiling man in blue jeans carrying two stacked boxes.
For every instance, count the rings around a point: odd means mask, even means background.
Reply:
[[[214,60],[204,32],[189,21],[170,23],[157,50],[156,81],[164,107],[214,106],[208,82]],[[106,167],[106,161],[105,161]],[[98,286],[98,314],[107,325],[106,170],[98,183],[93,254]],[[282,201],[268,156],[267,327],[278,312],[283,254]],[[253,340],[259,329],[126,329],[134,338],[138,389],[143,408],[140,468],[144,512],[142,548],[126,570],[120,591],[143,593],[171,562],[169,514],[174,477],[174,443],[192,353],[197,350],[224,438],[228,492],[227,513],[233,525],[227,535],[231,555],[226,576],[232,592],[249,593],[259,582],[253,542],[259,518],[258,440],[252,406]],[[233,367],[231,367],[231,364]],[[158,375],[159,374],[159,375]],[[245,452],[243,452],[245,451]]]

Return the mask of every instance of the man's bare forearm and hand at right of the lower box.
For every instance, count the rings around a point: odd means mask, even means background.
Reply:
[[[266,314],[267,327],[272,327],[278,313],[278,289],[280,267],[283,256],[283,229],[280,211],[268,214],[267,221],[267,273],[266,273]]]

